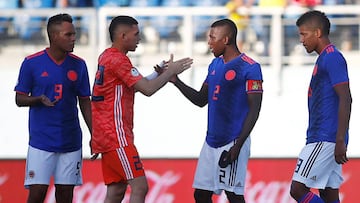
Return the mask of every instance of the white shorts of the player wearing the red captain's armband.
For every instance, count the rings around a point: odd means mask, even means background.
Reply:
[[[250,142],[250,137],[248,137],[240,150],[238,159],[226,168],[220,168],[219,158],[224,150],[229,151],[234,142],[219,148],[210,147],[204,142],[195,171],[193,188],[213,191],[217,195],[222,190],[244,195]]]

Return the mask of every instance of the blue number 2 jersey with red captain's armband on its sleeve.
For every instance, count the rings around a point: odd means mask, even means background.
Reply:
[[[245,54],[228,63],[222,57],[209,65],[208,127],[206,142],[221,147],[236,139],[249,111],[247,94],[262,92],[262,73],[258,63]]]

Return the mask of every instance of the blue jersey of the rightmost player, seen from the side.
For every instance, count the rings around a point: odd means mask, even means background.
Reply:
[[[348,83],[347,64],[334,45],[319,55],[308,90],[309,126],[306,143],[336,142],[339,98],[334,86]],[[346,143],[348,132],[346,132]]]

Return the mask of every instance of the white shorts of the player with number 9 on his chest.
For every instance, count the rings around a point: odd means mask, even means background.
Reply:
[[[55,153],[29,146],[24,185],[25,188],[34,184],[49,185],[52,176],[55,184],[81,185],[81,168],[81,149],[74,152]]]

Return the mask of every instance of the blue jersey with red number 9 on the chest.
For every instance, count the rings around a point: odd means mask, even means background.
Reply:
[[[71,152],[81,148],[82,133],[78,118],[77,97],[90,96],[85,61],[68,54],[56,64],[43,50],[23,61],[15,91],[21,94],[46,95],[54,107],[42,104],[29,109],[29,145],[49,152]]]

